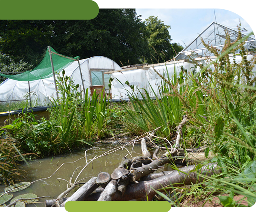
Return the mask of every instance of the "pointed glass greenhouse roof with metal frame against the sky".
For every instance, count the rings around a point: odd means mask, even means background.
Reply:
[[[243,28],[241,31],[247,31]],[[176,57],[175,60],[184,60],[189,59],[188,55],[197,54],[198,57],[213,56],[213,53],[210,53],[203,45],[201,38],[204,40],[204,43],[209,44],[210,46],[218,47],[222,50],[225,40],[226,32],[229,33],[230,41],[234,42],[238,36],[238,31],[226,27],[222,24],[211,23],[198,37],[187,47],[185,47]],[[242,34],[242,37],[245,37],[245,34]],[[247,51],[256,51],[256,40],[252,37],[248,37],[245,43]]]

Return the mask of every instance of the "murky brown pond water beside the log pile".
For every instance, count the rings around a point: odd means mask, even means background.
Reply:
[[[109,145],[101,145],[100,149],[94,149],[87,151],[87,160],[99,156],[104,152],[113,149],[109,147]],[[85,170],[80,175],[79,179],[83,179],[81,182],[86,182],[97,175],[101,171],[106,171],[109,174],[119,165],[124,156],[127,158],[136,157],[141,155],[141,147],[135,145],[132,149],[132,146],[126,147],[127,149],[120,149],[112,154],[107,156],[103,156],[95,161],[92,164],[88,165]],[[131,155],[129,154],[129,152]],[[50,196],[49,198],[40,199],[41,201],[44,199],[55,199],[57,198],[65,189],[67,188],[68,182],[74,182],[76,176],[81,171],[83,166],[86,164],[86,159],[80,159],[85,156],[85,150],[74,152],[72,154],[58,156],[58,157],[49,157],[44,159],[36,159],[34,161],[30,161],[29,166],[24,165],[22,168],[27,171],[28,178],[26,181],[32,182],[37,179],[47,178],[51,176],[63,163],[68,163],[62,165],[59,170],[49,179],[44,179],[42,181],[38,181],[30,185],[28,188],[23,191],[14,192],[13,197],[21,195],[21,194],[36,194],[37,196]],[[79,161],[77,161],[80,159]],[[77,161],[77,162],[74,162]],[[76,170],[77,169],[77,170]],[[76,170],[76,171],[75,171]],[[72,177],[73,175],[73,177]],[[62,178],[62,179],[58,179]],[[66,181],[64,181],[65,179]],[[4,186],[0,186],[0,193],[4,191]],[[72,191],[71,194],[75,192]],[[70,194],[68,195],[70,196]],[[33,204],[27,206],[35,206]],[[37,203],[37,206],[43,207],[44,203]]]

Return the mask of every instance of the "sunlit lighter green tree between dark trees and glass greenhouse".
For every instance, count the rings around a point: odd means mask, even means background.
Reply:
[[[171,43],[171,36],[168,29],[169,25],[165,25],[164,21],[158,17],[150,16],[145,19],[144,24],[147,30],[147,42],[150,51],[150,58],[148,62],[164,62],[172,59],[179,51],[183,49],[177,43]]]

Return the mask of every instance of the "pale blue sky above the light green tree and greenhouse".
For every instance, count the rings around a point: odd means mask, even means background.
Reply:
[[[137,9],[137,15],[145,20],[149,16],[158,16],[165,25],[170,25],[171,39],[184,47],[190,44],[213,21],[230,28],[237,28],[239,19],[248,32],[256,27],[256,9]],[[216,20],[214,16],[216,14]],[[183,43],[184,42],[184,43]]]

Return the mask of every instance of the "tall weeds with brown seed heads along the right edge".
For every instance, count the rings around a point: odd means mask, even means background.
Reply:
[[[217,161],[222,171],[218,178],[208,178],[207,185],[230,194],[219,196],[223,206],[229,207],[241,206],[233,199],[238,194],[247,198],[249,206],[256,202],[256,79],[252,73],[256,57],[247,60],[244,42],[238,26],[237,40],[232,43],[227,33],[222,51],[204,43],[218,59],[211,62],[212,66],[199,65],[201,70],[190,79],[200,81],[201,91],[207,97],[206,109],[211,115],[207,116],[209,125],[204,138],[213,144],[210,148],[215,149],[217,156],[212,162]],[[242,61],[230,61],[229,53],[234,58],[240,56]]]

